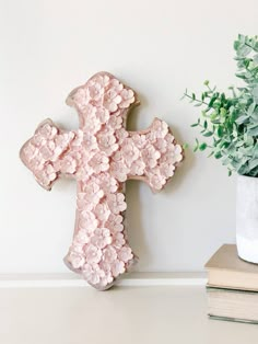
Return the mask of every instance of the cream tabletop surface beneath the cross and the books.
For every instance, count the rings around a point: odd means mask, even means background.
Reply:
[[[204,287],[1,289],[4,344],[256,344],[258,326],[210,320]]]

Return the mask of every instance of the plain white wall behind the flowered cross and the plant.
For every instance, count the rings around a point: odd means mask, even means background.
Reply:
[[[235,82],[232,44],[258,33],[256,0],[23,0],[0,1],[1,193],[0,273],[67,272],[75,183],[38,186],[19,160],[21,145],[51,117],[77,128],[67,94],[99,70],[138,91],[130,127],[155,115],[178,139],[194,142],[198,108],[179,101],[206,79]],[[140,271],[200,271],[211,253],[234,242],[235,177],[203,154],[187,151],[159,195],[129,182],[130,242]]]

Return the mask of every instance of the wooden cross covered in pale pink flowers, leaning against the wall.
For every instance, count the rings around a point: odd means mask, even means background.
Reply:
[[[146,130],[126,130],[128,112],[139,101],[107,72],[73,90],[67,104],[78,111],[80,129],[64,131],[46,119],[22,147],[21,159],[46,190],[62,174],[75,177],[75,229],[64,263],[104,290],[137,260],[124,223],[125,182],[141,180],[162,190],[183,149],[159,118]]]

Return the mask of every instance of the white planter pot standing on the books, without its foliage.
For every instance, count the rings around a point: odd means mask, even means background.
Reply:
[[[258,177],[237,176],[236,244],[239,257],[258,263]]]

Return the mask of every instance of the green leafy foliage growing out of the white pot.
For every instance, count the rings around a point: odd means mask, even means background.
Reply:
[[[221,159],[233,171],[242,175],[258,176],[258,36],[238,35],[234,43],[237,61],[236,77],[243,79],[241,88],[228,88],[230,94],[220,92],[204,81],[200,98],[196,93],[184,93],[195,106],[202,111],[192,127],[209,141],[196,139],[195,151],[210,149],[210,154]]]

